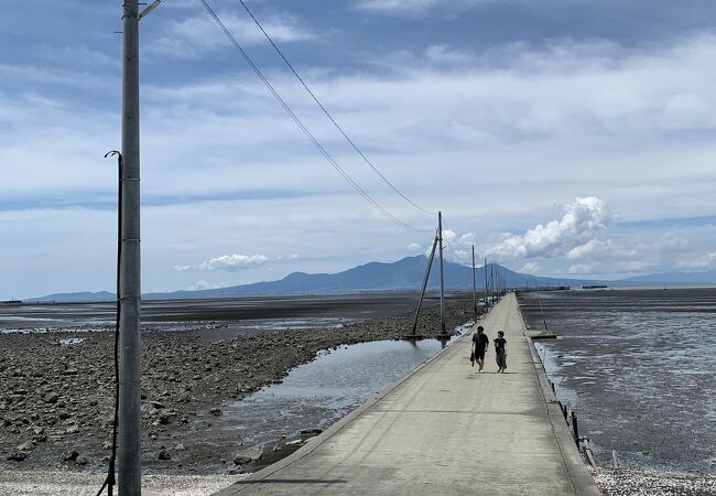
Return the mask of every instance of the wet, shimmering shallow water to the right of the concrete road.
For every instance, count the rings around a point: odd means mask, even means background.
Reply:
[[[716,472],[716,291],[525,294],[557,398],[607,463]]]

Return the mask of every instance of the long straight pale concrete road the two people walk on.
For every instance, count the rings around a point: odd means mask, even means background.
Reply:
[[[484,374],[464,336],[288,459],[217,493],[599,495],[582,463],[514,295],[480,322],[503,330]]]

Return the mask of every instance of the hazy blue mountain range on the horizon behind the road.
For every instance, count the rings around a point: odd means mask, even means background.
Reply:
[[[148,293],[147,300],[181,298],[230,298],[241,295],[337,293],[356,291],[420,290],[425,276],[427,258],[424,256],[405,257],[392,263],[369,262],[338,273],[293,272],[279,281],[256,282],[253,284],[232,285],[230,288],[174,291],[170,293]],[[469,290],[473,288],[473,269],[460,263],[444,262],[445,288],[448,290]],[[485,267],[477,269],[478,290],[485,287]],[[497,263],[488,263],[488,279],[495,277],[505,281],[509,288],[579,285],[594,283],[574,279],[541,278],[513,272]],[[431,270],[430,289],[440,288],[440,262],[435,260]],[[50,294],[29,301],[101,301],[113,300],[115,294],[100,293],[62,293]]]

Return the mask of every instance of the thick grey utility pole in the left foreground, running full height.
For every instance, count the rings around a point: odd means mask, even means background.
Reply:
[[[122,231],[119,274],[118,489],[141,495],[139,4],[124,0],[122,57]]]

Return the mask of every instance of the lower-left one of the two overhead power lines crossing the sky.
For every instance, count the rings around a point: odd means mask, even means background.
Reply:
[[[253,72],[259,76],[261,82],[264,84],[264,86],[271,91],[271,94],[274,96],[274,98],[279,101],[281,107],[291,116],[293,121],[301,128],[303,133],[308,138],[308,140],[313,143],[313,145],[318,150],[318,152],[325,157],[325,159],[330,163],[330,165],[334,166],[336,171],[350,184],[354,190],[356,190],[368,203],[370,203],[376,209],[380,211],[386,217],[390,218],[393,220],[395,224],[399,224],[402,227],[405,227],[408,229],[413,229],[416,231],[421,233],[427,233],[432,229],[420,229],[417,227],[411,226],[408,223],[404,223],[393,216],[390,212],[388,212],[386,208],[383,208],[376,200],[373,200],[372,196],[370,196],[356,181],[350,177],[350,175],[336,162],[336,160],[333,158],[330,153],[318,142],[318,140],[311,133],[311,131],[305,127],[305,125],[301,121],[299,116],[296,116],[293,110],[291,110],[291,107],[285,103],[285,100],[279,95],[279,93],[275,90],[275,88],[271,85],[271,83],[265,78],[261,69],[253,63],[251,57],[249,56],[248,53],[241,47],[239,42],[236,41],[236,37],[231,34],[231,32],[226,28],[224,22],[221,22],[221,19],[216,14],[214,9],[207,3],[206,0],[200,0],[204,7],[206,8],[207,12],[214,21],[217,23],[217,25],[224,31],[224,34],[231,41],[231,44],[234,44],[234,47],[241,54],[241,56],[246,60],[246,62],[249,64],[249,66],[253,69]]]

